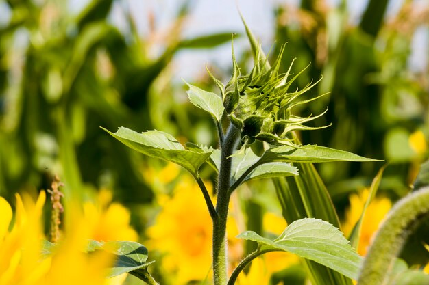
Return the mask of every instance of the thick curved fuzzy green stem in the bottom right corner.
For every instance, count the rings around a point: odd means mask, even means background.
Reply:
[[[358,285],[384,284],[410,229],[429,214],[429,187],[402,198],[391,209],[373,240],[358,278]]]

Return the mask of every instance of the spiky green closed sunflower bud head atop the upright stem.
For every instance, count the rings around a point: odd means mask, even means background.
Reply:
[[[289,87],[299,74],[291,77],[289,67],[285,74],[279,73],[284,45],[280,55],[271,68],[266,68],[267,59],[256,50],[254,67],[249,74],[241,74],[232,51],[233,74],[230,81],[223,86],[215,80],[223,97],[223,106],[228,118],[236,128],[241,130],[241,141],[252,144],[255,139],[269,143],[290,142],[287,134],[294,130],[315,129],[305,126],[305,122],[319,118],[318,116],[299,117],[292,114],[293,107],[308,103],[316,98],[298,100],[299,96],[310,90],[315,83],[308,83],[302,90],[289,92]],[[304,71],[304,70],[302,70]],[[324,128],[326,126],[318,127]]]

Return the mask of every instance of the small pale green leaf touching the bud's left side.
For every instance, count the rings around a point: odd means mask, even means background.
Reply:
[[[208,111],[208,113],[216,118],[217,122],[220,122],[224,110],[222,98],[215,93],[207,92],[188,83],[186,84],[189,86],[188,96],[191,103],[204,111]]]

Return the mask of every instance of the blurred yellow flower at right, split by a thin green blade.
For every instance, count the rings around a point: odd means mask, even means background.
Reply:
[[[364,189],[359,194],[353,193],[350,195],[350,208],[345,211],[345,221],[343,223],[343,232],[346,236],[350,235],[356,222],[362,215],[363,207],[367,201],[369,190]],[[360,230],[360,239],[358,246],[358,253],[365,255],[367,253],[367,247],[371,243],[373,234],[378,230],[380,222],[385,215],[389,212],[392,206],[391,201],[388,198],[374,198],[369,204],[367,211],[363,217],[362,227]]]

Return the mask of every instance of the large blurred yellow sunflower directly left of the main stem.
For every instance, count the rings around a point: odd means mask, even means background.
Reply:
[[[204,280],[211,267],[212,220],[201,190],[184,176],[174,196],[163,196],[159,203],[162,211],[147,230],[149,248],[165,254],[162,267],[175,274],[175,284]]]

